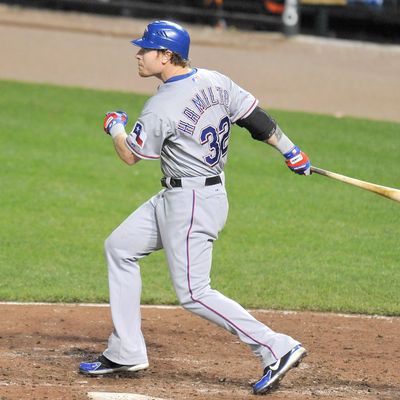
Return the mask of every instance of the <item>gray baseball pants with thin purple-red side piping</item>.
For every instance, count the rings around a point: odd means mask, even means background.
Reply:
[[[139,261],[162,248],[182,307],[237,335],[261,358],[263,367],[298,344],[211,288],[213,241],[227,215],[224,184],[204,186],[204,178],[183,178],[181,188],[161,190],[111,233],[105,242],[114,325],[104,352],[108,359],[124,365],[148,362],[141,330]]]

